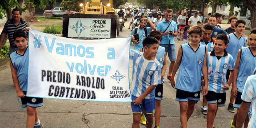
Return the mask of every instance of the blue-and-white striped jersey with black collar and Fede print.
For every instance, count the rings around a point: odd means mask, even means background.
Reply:
[[[224,56],[218,59],[214,50],[207,53],[208,89],[215,93],[225,93],[227,70],[235,66],[233,57],[224,50]]]

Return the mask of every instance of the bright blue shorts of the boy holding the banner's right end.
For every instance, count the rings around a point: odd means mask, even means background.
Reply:
[[[131,97],[132,101],[135,100],[137,97],[133,96]],[[143,99],[141,101],[141,104],[136,106],[131,102],[131,109],[132,113],[141,113],[142,109],[144,108],[146,114],[153,114],[155,113],[155,98],[152,99]]]

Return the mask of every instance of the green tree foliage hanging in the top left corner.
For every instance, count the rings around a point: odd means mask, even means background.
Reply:
[[[22,7],[24,2],[25,6]],[[19,8],[22,12],[27,10],[30,5],[35,8],[44,9],[50,2],[56,2],[56,0],[1,0],[0,4],[0,19],[3,18],[3,14],[7,14],[7,19],[12,18],[12,8]]]

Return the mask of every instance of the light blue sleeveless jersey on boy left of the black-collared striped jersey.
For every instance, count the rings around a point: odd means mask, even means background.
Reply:
[[[189,43],[182,44],[182,58],[177,76],[176,89],[188,92],[198,92],[201,90],[201,70],[206,47],[199,45],[194,51]]]

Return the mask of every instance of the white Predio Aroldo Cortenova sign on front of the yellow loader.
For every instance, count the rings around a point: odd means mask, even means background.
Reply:
[[[68,37],[110,38],[111,19],[69,18]]]

